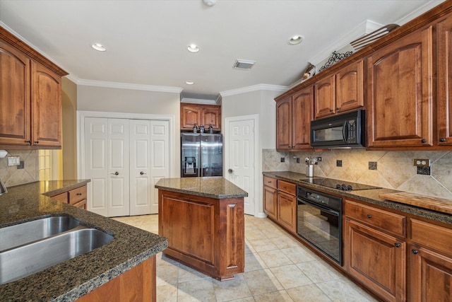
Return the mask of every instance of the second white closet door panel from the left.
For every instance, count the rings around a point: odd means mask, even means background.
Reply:
[[[108,119],[108,216],[129,216],[129,120]]]

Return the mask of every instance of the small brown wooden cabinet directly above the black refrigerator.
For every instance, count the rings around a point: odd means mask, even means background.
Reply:
[[[221,106],[181,103],[181,130],[193,130],[195,123],[204,125],[206,132],[212,124],[215,132],[220,132]]]

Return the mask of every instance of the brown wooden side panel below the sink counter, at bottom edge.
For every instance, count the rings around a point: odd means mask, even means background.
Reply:
[[[78,298],[77,302],[92,301],[157,301],[155,256],[141,262],[124,274]]]

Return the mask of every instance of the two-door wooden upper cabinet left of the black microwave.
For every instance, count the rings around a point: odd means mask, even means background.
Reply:
[[[276,101],[276,149],[311,150],[309,128],[314,115],[313,86]]]

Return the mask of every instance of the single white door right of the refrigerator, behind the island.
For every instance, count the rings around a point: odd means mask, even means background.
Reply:
[[[254,116],[226,119],[225,178],[248,192],[248,197],[244,198],[244,212],[249,215],[256,212],[256,119]]]

